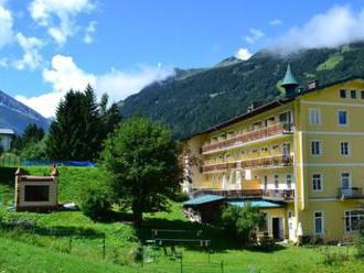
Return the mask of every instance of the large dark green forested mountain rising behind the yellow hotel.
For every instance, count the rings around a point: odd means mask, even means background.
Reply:
[[[302,88],[313,79],[321,85],[364,76],[364,43],[286,55],[260,51],[248,61],[231,57],[211,68],[179,69],[128,97],[121,113],[160,120],[172,127],[176,138],[184,138],[245,112],[253,102],[282,96],[280,80],[288,63]]]

